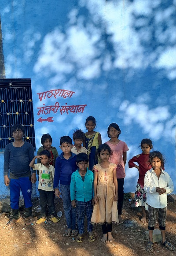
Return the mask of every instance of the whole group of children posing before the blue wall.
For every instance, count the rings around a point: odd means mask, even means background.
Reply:
[[[95,241],[93,225],[96,223],[102,225],[102,242],[114,240],[111,234],[112,224],[123,223],[125,164],[129,149],[124,141],[119,140],[121,130],[116,123],[111,123],[108,127],[107,135],[110,140],[104,144],[102,144],[101,134],[95,132],[94,117],[89,116],[86,119],[85,127],[88,130],[85,134],[78,129],[74,131],[74,145],[69,136],[60,138],[62,150],[60,155],[58,155],[57,149],[51,146],[51,136],[44,134],[41,138],[42,147],[39,148],[37,156],[34,156],[33,148],[29,146],[28,142],[23,141],[24,127],[12,126],[11,133],[14,142],[8,144],[4,152],[4,183],[6,186],[9,185],[8,170],[10,169],[10,197],[13,215],[11,226],[19,221],[20,189],[25,202],[26,220],[34,222],[30,197],[31,182],[36,182],[35,170],[37,170],[41,206],[41,218],[37,220],[37,224],[46,220],[47,206],[51,221],[53,223],[59,221],[55,215],[54,200],[55,196],[60,198],[62,195],[67,224],[64,236],[77,236],[77,242],[83,241],[84,214],[86,212],[88,241]],[[30,150],[26,149],[27,147]],[[128,164],[129,167],[136,167],[139,171],[135,204],[142,207],[141,220],[144,223],[146,223],[148,208],[149,241],[146,250],[154,251],[152,235],[158,211],[162,244],[172,251],[175,247],[165,240],[165,217],[167,194],[172,193],[173,182],[169,174],[164,171],[164,160],[161,153],[150,152],[153,148],[152,141],[143,139],[140,147],[142,153],[134,156]],[[26,154],[24,154],[24,148]],[[36,159],[37,164],[35,164]],[[20,163],[22,164],[20,165]],[[32,176],[30,167],[33,168]],[[26,182],[27,179],[28,182]]]

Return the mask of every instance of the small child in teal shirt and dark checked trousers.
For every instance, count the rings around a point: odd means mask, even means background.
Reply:
[[[77,225],[79,234],[77,242],[83,241],[84,234],[84,213],[86,210],[88,219],[88,241],[95,241],[91,217],[93,211],[93,172],[88,170],[88,155],[80,153],[77,155],[77,171],[73,172],[70,184],[70,196],[73,207],[77,207]],[[76,200],[76,201],[75,201]]]

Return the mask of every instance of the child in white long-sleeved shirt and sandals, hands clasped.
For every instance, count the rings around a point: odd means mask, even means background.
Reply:
[[[146,250],[154,252],[153,230],[156,223],[156,215],[158,211],[158,223],[161,230],[162,245],[170,251],[174,251],[174,245],[171,245],[165,239],[165,219],[167,214],[167,194],[173,191],[173,182],[169,174],[163,171],[161,165],[164,165],[165,160],[159,151],[153,151],[149,155],[149,160],[152,169],[146,172],[144,178],[144,190],[147,192],[148,204],[148,230],[149,241]]]

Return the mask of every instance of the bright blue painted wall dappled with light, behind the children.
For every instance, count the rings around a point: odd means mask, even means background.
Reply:
[[[175,0],[4,0],[0,18],[6,78],[31,78],[37,149],[41,135],[50,133],[59,151],[59,137],[77,127],[85,131],[89,115],[103,142],[117,122],[130,149],[127,160],[149,137],[167,160],[176,192]],[[56,91],[40,101],[37,93],[55,89],[74,93],[64,98]],[[56,102],[57,113],[38,115]],[[87,106],[61,115],[66,104]],[[48,117],[54,122],[37,121]],[[135,191],[137,179],[127,164],[125,192]],[[0,194],[7,193],[3,175],[0,182]]]

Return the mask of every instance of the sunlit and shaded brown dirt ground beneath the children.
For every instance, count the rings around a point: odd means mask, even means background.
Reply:
[[[48,216],[47,223],[29,224],[24,220],[21,211],[21,220],[13,228],[6,226],[11,215],[0,214],[0,256],[137,256],[150,255],[145,251],[147,238],[147,223],[140,221],[141,212],[131,208],[128,196],[124,200],[123,219],[121,225],[113,225],[114,242],[102,243],[101,226],[94,228],[95,242],[88,242],[88,233],[84,235],[82,243],[72,237],[64,237],[66,227],[64,214],[59,223],[51,223]],[[62,199],[55,201],[56,211],[62,211]],[[39,200],[33,202],[33,215],[40,217],[37,209]],[[156,224],[158,228],[158,223]],[[166,221],[166,239],[176,246],[176,204],[168,202]],[[28,244],[27,244],[28,243]],[[170,252],[160,243],[154,244],[154,256],[172,256],[176,251]]]

